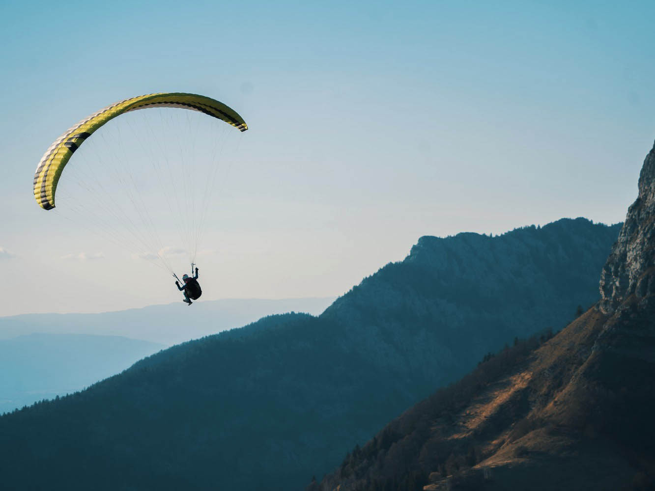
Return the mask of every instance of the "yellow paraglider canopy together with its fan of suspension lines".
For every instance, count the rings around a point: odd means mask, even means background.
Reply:
[[[225,184],[217,176],[229,162],[227,139],[239,134],[231,126],[248,130],[234,109],[207,96],[160,92],[119,101],[50,145],[34,173],[34,198],[46,210],[57,200],[55,216],[173,274],[173,259],[188,253],[184,262],[195,263],[204,225],[218,213],[214,185]]]

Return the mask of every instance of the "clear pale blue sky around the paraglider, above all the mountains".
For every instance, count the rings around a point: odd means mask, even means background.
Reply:
[[[339,295],[422,235],[622,221],[655,137],[655,4],[545,4],[0,3],[0,315],[179,300],[31,192],[66,128],[150,92],[250,126],[200,246],[207,299]]]

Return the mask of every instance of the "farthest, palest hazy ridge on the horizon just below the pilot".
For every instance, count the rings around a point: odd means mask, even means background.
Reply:
[[[176,302],[100,314],[24,314],[0,317],[0,340],[32,333],[65,333],[125,336],[172,346],[241,327],[271,314],[294,311],[318,315],[333,300],[334,297],[223,299],[194,302],[190,308]]]

